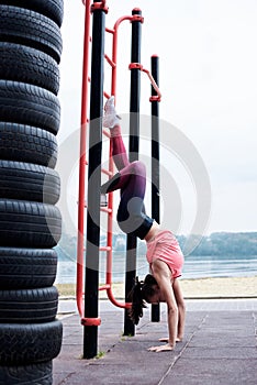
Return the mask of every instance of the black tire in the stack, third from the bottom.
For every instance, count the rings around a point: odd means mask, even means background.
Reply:
[[[55,320],[58,290],[55,286],[0,290],[0,323],[38,323]]]

